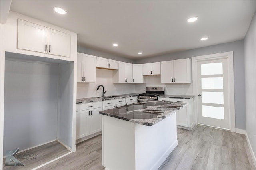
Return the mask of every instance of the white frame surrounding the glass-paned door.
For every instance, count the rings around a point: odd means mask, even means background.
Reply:
[[[235,100],[234,100],[234,67],[233,67],[233,51],[225,53],[217,53],[210,55],[202,55],[192,57],[192,73],[193,73],[193,95],[194,99],[194,113],[195,123],[198,125],[198,88],[197,88],[197,63],[198,61],[207,61],[212,59],[227,59],[228,65],[228,110],[229,110],[229,127],[231,132],[236,131],[236,119],[235,119]]]

